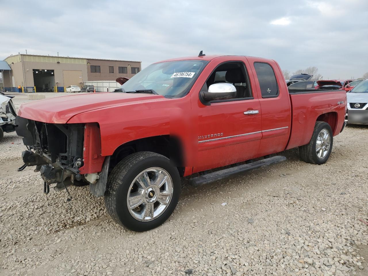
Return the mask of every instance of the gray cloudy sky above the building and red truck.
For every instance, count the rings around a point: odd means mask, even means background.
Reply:
[[[18,52],[141,60],[235,54],[323,78],[368,71],[368,1],[0,0],[0,59]]]

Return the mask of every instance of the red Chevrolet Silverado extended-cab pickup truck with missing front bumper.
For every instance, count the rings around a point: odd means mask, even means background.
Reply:
[[[171,215],[181,177],[208,183],[295,147],[325,163],[345,114],[344,91],[289,93],[274,60],[199,54],[151,64],[115,92],[23,104],[20,170],[36,166],[46,193],[88,184],[117,223],[145,231]]]

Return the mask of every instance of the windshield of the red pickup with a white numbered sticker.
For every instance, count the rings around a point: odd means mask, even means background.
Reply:
[[[150,90],[169,98],[180,98],[188,93],[207,63],[206,60],[154,63],[121,85],[116,92]]]

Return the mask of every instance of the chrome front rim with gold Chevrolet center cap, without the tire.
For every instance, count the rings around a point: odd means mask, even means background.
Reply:
[[[166,170],[148,168],[130,184],[127,205],[130,214],[137,220],[156,219],[167,208],[173,195],[173,181]]]

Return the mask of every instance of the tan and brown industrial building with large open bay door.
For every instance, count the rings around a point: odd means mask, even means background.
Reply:
[[[7,57],[11,70],[4,71],[4,88],[17,90],[36,87],[37,92],[63,91],[69,85],[83,86],[84,81],[112,81],[131,78],[141,71],[141,61],[84,59],[76,57],[18,54]]]

